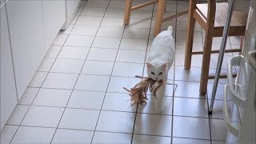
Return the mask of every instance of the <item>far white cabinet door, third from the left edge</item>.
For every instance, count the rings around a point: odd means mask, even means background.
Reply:
[[[46,49],[50,47],[66,20],[65,0],[42,1]]]

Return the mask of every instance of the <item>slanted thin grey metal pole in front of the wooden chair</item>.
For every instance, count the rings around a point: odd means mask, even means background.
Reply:
[[[234,1],[235,0],[229,1],[229,9],[228,9],[228,14],[226,15],[226,24],[224,26],[224,30],[223,30],[223,34],[222,34],[222,43],[221,43],[220,51],[218,54],[218,65],[217,65],[217,69],[216,69],[216,73],[215,73],[214,87],[213,87],[213,91],[211,94],[210,107],[209,107],[208,114],[212,114],[213,107],[214,107],[214,99],[215,99],[216,90],[217,90],[217,86],[218,86],[218,78],[219,78],[219,75],[220,75],[220,72],[222,69],[222,61],[223,61],[223,57],[225,54],[225,48],[226,48],[226,39],[228,37],[229,30],[230,30],[230,21],[231,21],[233,9],[234,9]]]

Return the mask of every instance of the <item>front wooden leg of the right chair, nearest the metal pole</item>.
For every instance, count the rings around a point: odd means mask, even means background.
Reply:
[[[208,75],[210,68],[210,54],[211,46],[213,42],[213,35],[209,31],[206,31],[205,44],[203,46],[202,54],[202,70],[200,80],[200,94],[205,95],[207,93]]]

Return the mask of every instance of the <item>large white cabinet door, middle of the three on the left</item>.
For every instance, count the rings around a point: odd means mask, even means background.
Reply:
[[[18,98],[21,98],[46,54],[42,1],[9,0],[6,10]]]

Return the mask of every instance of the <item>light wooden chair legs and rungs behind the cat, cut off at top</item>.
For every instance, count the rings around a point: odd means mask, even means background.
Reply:
[[[130,14],[132,10],[137,10],[139,8],[142,8],[144,6],[149,6],[154,3],[158,3],[158,9],[156,14],[156,21],[154,26],[154,36],[158,35],[161,32],[162,22],[170,21],[171,19],[177,18],[181,15],[187,14],[189,10],[184,10],[178,14],[172,15],[167,18],[163,18],[163,14],[166,10],[166,0],[152,0],[150,2],[144,2],[137,6],[132,6],[133,0],[126,0],[126,8],[125,8],[125,16],[123,23],[125,25],[129,25],[130,23]]]

